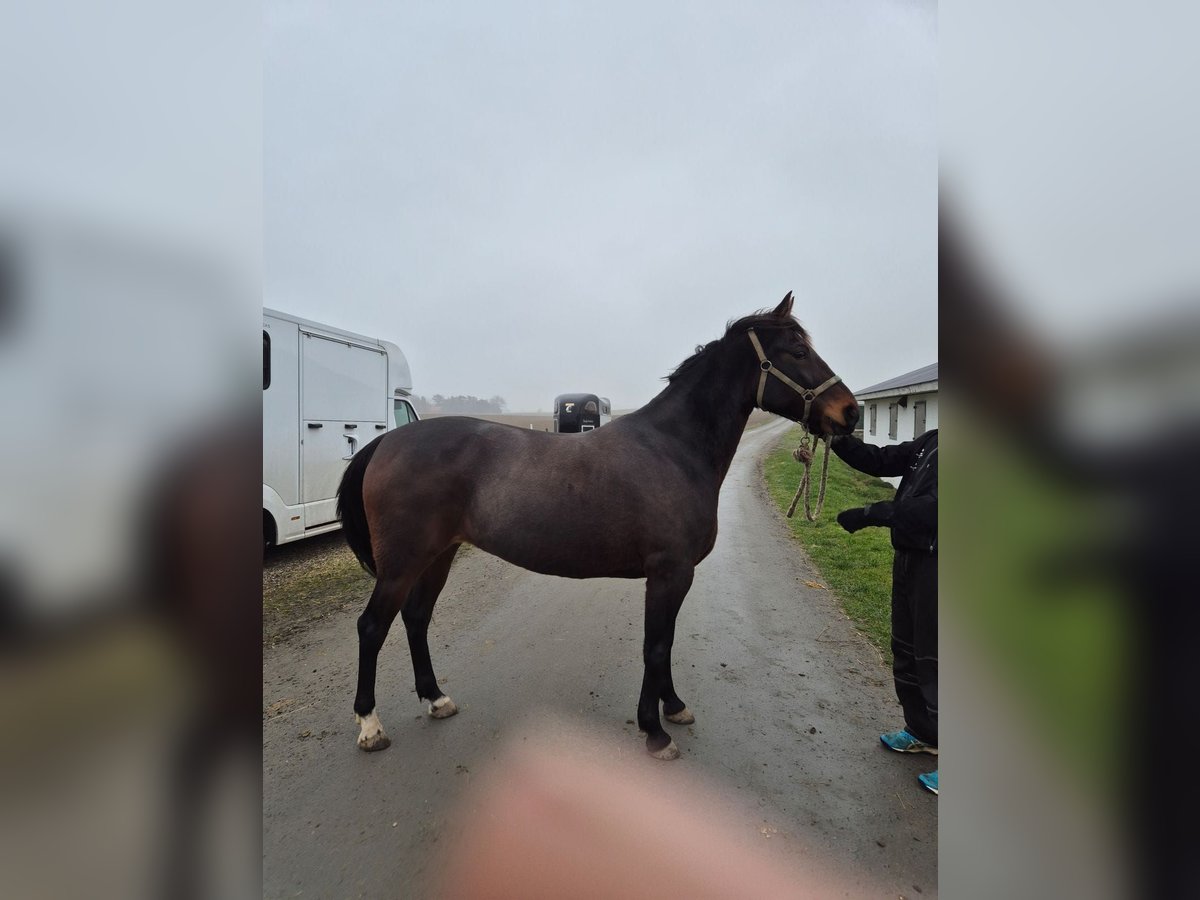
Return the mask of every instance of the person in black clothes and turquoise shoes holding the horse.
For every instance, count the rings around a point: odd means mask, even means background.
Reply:
[[[895,498],[838,514],[853,534],[869,526],[892,529],[892,673],[905,727],[881,734],[890,750],[937,755],[937,430],[894,446],[853,437],[833,450],[868,475],[902,475]],[[937,793],[937,772],[919,776]]]

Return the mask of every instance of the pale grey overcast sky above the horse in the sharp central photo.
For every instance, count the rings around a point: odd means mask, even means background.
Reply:
[[[418,394],[641,406],[787,290],[852,389],[937,359],[936,7],[269,2],[264,305]]]

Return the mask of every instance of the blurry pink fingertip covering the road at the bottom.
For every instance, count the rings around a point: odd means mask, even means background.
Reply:
[[[652,900],[862,895],[820,850],[764,852],[774,829],[695,773],[664,772],[542,714],[462,800],[438,895]],[[883,888],[880,887],[880,894]]]

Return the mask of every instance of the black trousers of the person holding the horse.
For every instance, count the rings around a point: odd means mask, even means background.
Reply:
[[[892,562],[892,674],[905,728],[937,746],[937,554],[905,550]]]

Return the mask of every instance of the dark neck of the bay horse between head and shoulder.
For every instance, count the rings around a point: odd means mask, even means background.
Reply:
[[[664,433],[679,440],[695,463],[716,476],[733,462],[754,401],[745,378],[727,359],[710,360],[702,370],[680,374],[641,413]]]

